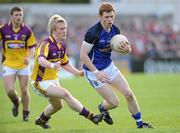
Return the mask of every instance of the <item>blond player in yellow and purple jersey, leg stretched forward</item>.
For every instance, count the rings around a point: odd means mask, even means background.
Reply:
[[[50,36],[42,41],[36,50],[31,77],[33,90],[38,95],[47,97],[49,105],[36,119],[35,124],[44,129],[50,128],[48,120],[63,107],[63,100],[72,110],[98,124],[102,120],[103,114],[92,114],[58,82],[58,70],[60,67],[74,75],[83,75],[82,71],[69,63],[66,55],[66,47],[63,43],[67,33],[66,20],[59,15],[53,15],[49,19],[48,28]]]

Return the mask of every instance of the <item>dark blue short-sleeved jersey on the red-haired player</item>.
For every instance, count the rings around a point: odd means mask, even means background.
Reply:
[[[117,26],[113,25],[110,32],[107,32],[100,22],[86,32],[84,41],[94,45],[88,56],[98,70],[105,69],[111,64],[110,40],[116,34],[120,34]],[[83,68],[89,70],[86,65],[83,65]]]

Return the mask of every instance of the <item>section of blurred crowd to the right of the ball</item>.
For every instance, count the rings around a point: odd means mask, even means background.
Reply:
[[[171,19],[134,18],[120,22],[132,45],[132,55],[139,58],[180,58],[180,31]]]

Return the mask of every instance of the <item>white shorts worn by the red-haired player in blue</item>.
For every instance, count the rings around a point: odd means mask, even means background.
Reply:
[[[107,68],[105,68],[101,71],[104,71],[108,75],[108,77],[110,78],[111,81],[120,73],[119,69],[114,65],[113,62]],[[101,81],[99,81],[96,78],[96,75],[91,71],[85,70],[84,75],[87,78],[88,82],[94,88],[100,88],[105,84],[105,83],[102,83]]]

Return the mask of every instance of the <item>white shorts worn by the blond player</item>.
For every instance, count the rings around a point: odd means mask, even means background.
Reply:
[[[58,80],[31,81],[33,91],[39,96],[45,96],[50,85],[59,85]],[[46,96],[45,96],[46,97]]]

